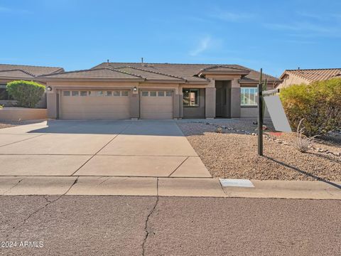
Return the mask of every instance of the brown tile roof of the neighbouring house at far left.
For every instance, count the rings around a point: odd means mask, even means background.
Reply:
[[[39,75],[47,75],[63,71],[64,71],[63,68],[56,67],[0,64],[0,77],[9,75],[13,75],[13,77],[16,77],[16,75],[21,75],[18,78],[34,78]]]

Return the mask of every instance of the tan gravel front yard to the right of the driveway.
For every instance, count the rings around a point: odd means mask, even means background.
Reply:
[[[318,139],[315,149],[301,153],[291,145],[295,133],[276,133],[271,122],[266,121],[269,130],[264,138],[268,139],[264,139],[264,156],[258,156],[257,137],[251,135],[256,133],[254,121],[181,120],[178,126],[214,177],[341,181],[341,156],[338,156],[341,145],[337,136]],[[217,125],[223,129],[217,131]]]

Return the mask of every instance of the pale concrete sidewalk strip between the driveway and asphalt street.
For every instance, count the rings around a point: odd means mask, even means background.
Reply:
[[[220,181],[217,178],[3,176],[0,177],[0,195],[194,196],[341,200],[340,185],[340,182],[323,181]]]

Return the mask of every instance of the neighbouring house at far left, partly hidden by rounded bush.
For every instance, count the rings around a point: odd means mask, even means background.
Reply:
[[[13,106],[16,101],[11,99],[6,91],[7,82],[13,80],[37,81],[39,75],[48,75],[63,72],[63,68],[38,67],[31,65],[0,64],[0,105]],[[38,103],[38,107],[46,107],[46,97]]]

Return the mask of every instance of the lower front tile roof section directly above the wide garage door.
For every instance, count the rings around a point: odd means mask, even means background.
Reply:
[[[114,79],[142,79],[140,75],[132,75],[112,68],[95,68],[91,70],[75,70],[70,72],[41,75],[39,78],[114,78]]]

